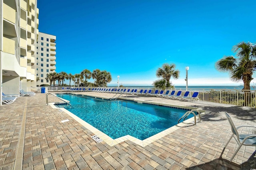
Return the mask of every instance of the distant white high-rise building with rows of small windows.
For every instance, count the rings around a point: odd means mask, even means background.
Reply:
[[[47,74],[56,70],[56,36],[39,32],[37,42],[37,57],[36,57],[36,77],[37,86],[49,84]]]

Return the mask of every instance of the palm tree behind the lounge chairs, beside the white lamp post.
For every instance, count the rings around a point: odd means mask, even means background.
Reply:
[[[161,68],[158,68],[156,70],[156,76],[158,78],[162,78],[163,80],[156,80],[153,85],[156,87],[159,82],[164,83],[163,88],[170,88],[173,87],[172,82],[170,82],[171,77],[174,79],[178,79],[180,76],[180,71],[175,70],[176,65],[175,64],[163,64]]]

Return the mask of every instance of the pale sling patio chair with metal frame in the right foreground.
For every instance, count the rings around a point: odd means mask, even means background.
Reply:
[[[231,131],[232,131],[233,134],[228,139],[228,142],[226,143],[226,145],[225,145],[225,147],[224,147],[222,152],[224,152],[224,150],[228,146],[228,143],[230,142],[232,137],[234,137],[234,139],[236,140],[236,142],[239,145],[238,148],[236,149],[236,151],[234,152],[233,156],[230,158],[230,162],[231,162],[233,160],[233,158],[236,156],[238,150],[242,147],[242,145],[245,145],[245,146],[255,146],[256,147],[256,134],[253,134],[253,132],[250,133],[250,134],[239,134],[237,130],[239,128],[241,128],[241,127],[253,127],[253,128],[255,128],[254,130],[256,130],[256,127],[255,126],[248,126],[248,125],[243,125],[243,126],[235,127],[235,125],[234,125],[230,115],[228,115],[227,112],[225,112],[225,115],[226,115],[226,117],[228,119],[228,122],[229,122],[229,124],[231,126]],[[245,131],[248,131],[248,129],[246,128]],[[233,145],[230,145],[230,147],[231,146],[233,146]]]

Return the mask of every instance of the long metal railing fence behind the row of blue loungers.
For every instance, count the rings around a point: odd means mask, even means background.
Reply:
[[[61,86],[50,86],[48,87],[48,92],[51,91],[68,91],[70,88],[72,87],[61,87]],[[74,87],[73,87],[74,88]],[[117,87],[75,87],[79,89],[85,89],[88,90],[90,88],[90,90],[92,90],[92,88],[96,88],[98,89],[105,89],[105,88],[117,88]],[[152,91],[154,92],[154,90],[156,90],[157,88],[142,88],[142,87],[120,87],[123,89],[138,89],[138,90],[145,90],[145,89],[152,89]],[[190,92],[190,96],[192,96],[192,94],[194,92],[199,92],[198,98],[200,101],[204,101],[204,102],[214,102],[214,103],[219,103],[219,104],[231,104],[231,105],[236,105],[236,106],[248,106],[248,107],[253,107],[256,108],[256,90],[237,90],[237,89],[192,89],[189,88],[188,90],[186,90],[186,88],[168,88],[164,90],[164,93],[167,90],[175,90],[176,92],[178,92],[179,90],[182,91],[181,96],[184,95],[184,93],[186,91]],[[103,91],[103,90],[102,90]]]

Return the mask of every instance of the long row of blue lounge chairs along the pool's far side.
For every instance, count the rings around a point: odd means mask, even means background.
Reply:
[[[189,96],[190,92],[186,91],[184,95],[182,96],[182,91],[178,91],[176,93],[175,90],[167,90],[164,93],[164,90],[153,90],[149,89],[141,89],[138,91],[138,89],[127,89],[126,88],[88,88],[88,90],[84,90],[88,92],[104,92],[104,93],[120,93],[120,94],[132,94],[132,95],[145,95],[145,96],[155,96],[155,97],[161,97],[161,98],[168,98],[173,100],[199,100],[198,98],[198,92],[194,92],[192,96]],[[176,93],[176,94],[175,94]]]

